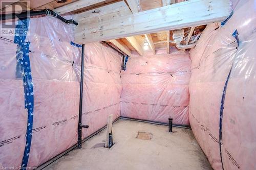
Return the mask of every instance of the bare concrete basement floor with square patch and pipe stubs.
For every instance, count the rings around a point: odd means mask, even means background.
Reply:
[[[152,139],[136,138],[138,132]],[[212,169],[189,129],[118,120],[113,124],[111,149],[103,148],[106,129],[44,169]]]

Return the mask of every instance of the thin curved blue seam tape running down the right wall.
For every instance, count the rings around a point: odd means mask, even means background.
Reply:
[[[232,34],[232,36],[234,38],[236,38],[237,40],[237,43],[238,43],[238,46],[239,46],[239,37],[238,37],[239,33],[238,33],[238,30],[234,31],[234,33]],[[235,60],[235,58],[234,58]],[[233,62],[234,62],[233,60]],[[222,143],[222,119],[223,119],[223,111],[224,111],[224,103],[225,103],[225,96],[226,96],[226,91],[227,91],[227,85],[228,85],[228,81],[229,81],[229,77],[230,77],[230,74],[231,74],[231,70],[232,70],[232,67],[233,67],[233,63],[231,65],[231,68],[229,70],[229,74],[227,76],[227,80],[225,82],[225,86],[223,88],[223,92],[222,92],[222,98],[221,98],[221,108],[220,108],[220,127],[219,127],[219,146],[220,146],[220,157],[221,157],[221,165],[222,165],[222,169],[224,170],[224,167],[223,167],[223,160],[222,160],[222,152],[221,152],[221,143]]]

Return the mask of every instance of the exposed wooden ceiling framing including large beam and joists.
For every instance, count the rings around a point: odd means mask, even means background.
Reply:
[[[170,46],[176,45],[170,30],[184,29],[180,43],[189,44],[205,25],[229,15],[229,0],[30,0],[28,6],[31,10],[45,8],[62,15],[74,14],[79,23],[74,28],[76,43],[107,41],[131,56],[147,51],[156,54],[158,50],[170,53]]]

